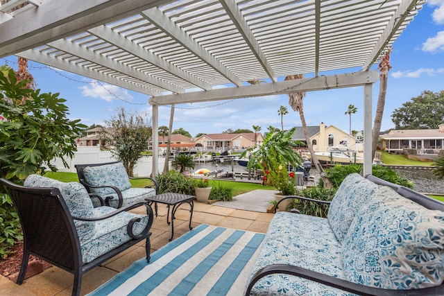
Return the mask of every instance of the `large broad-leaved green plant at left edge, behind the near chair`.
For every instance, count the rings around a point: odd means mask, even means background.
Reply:
[[[67,119],[65,99],[58,94],[41,94],[27,89],[27,80],[18,82],[12,69],[0,72],[0,175],[15,181],[46,168],[57,171],[51,161],[77,150],[76,139],[86,125]],[[14,181],[14,180],[13,180]]]

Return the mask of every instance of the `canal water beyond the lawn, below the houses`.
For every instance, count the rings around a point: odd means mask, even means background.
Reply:
[[[195,170],[207,168],[210,171],[222,170],[223,173],[247,173],[242,166],[239,166],[237,162],[196,162]],[[395,168],[393,171],[402,175],[407,180],[413,182],[413,189],[422,193],[435,193],[444,194],[444,180],[438,180],[434,175],[432,175],[432,170],[430,169],[420,169],[420,168]],[[315,168],[311,168],[310,173],[313,175],[317,173]]]

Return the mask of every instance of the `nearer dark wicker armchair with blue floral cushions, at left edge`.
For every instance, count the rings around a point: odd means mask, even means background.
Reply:
[[[72,295],[80,295],[85,272],[144,239],[149,262],[153,211],[146,202],[121,209],[94,208],[81,184],[40,175],[28,176],[25,186],[5,179],[0,184],[10,194],[24,234],[17,284],[24,281],[30,254],[74,274]],[[140,206],[146,207],[147,215],[128,212]]]

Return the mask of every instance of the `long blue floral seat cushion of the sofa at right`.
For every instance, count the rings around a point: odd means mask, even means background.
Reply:
[[[345,279],[341,243],[334,236],[326,218],[283,211],[276,213],[260,247],[250,279],[260,268],[275,263],[296,265]],[[251,295],[352,294],[301,277],[276,274],[257,281]]]

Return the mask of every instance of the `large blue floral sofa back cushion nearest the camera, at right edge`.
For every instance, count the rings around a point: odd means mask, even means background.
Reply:
[[[386,186],[360,207],[343,241],[349,281],[416,289],[444,280],[444,212],[432,211]]]

